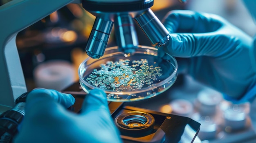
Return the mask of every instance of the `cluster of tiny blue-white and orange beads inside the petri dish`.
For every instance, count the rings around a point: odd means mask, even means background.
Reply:
[[[159,66],[148,65],[147,59],[131,62],[129,59],[119,59],[117,62],[100,64],[100,69],[94,69],[85,80],[98,88],[128,92],[152,86],[162,75],[161,71]]]

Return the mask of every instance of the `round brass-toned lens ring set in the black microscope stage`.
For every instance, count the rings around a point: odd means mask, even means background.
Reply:
[[[155,119],[151,114],[140,111],[131,111],[119,114],[115,124],[121,134],[127,136],[145,136],[152,132]]]

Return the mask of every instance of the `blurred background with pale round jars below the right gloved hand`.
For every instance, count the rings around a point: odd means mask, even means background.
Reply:
[[[204,99],[198,100],[202,95]],[[157,97],[124,105],[189,117],[201,124],[198,137],[202,143],[254,143],[250,104],[233,104],[219,95],[220,92],[185,76],[182,85],[174,84]]]

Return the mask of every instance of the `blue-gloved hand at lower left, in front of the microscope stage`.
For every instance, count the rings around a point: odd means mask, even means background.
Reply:
[[[95,89],[85,97],[81,114],[67,111],[74,101],[56,90],[29,92],[14,143],[121,143],[103,91]]]

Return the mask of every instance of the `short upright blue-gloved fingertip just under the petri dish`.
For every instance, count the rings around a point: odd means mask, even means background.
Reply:
[[[108,112],[108,101],[106,93],[103,90],[93,89],[86,95],[83,106],[81,109],[81,114],[86,114],[88,112]]]

